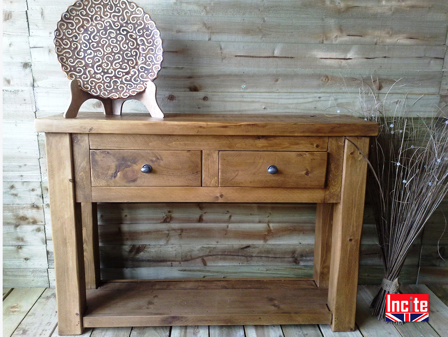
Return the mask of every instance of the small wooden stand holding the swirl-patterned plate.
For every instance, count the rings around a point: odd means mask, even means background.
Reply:
[[[129,99],[136,99],[143,103],[143,105],[148,109],[151,117],[164,118],[162,110],[160,110],[159,104],[155,99],[155,84],[152,81],[147,82],[146,90],[139,92],[135,96],[130,96],[127,98],[103,98],[99,96],[92,95],[87,91],[81,89],[77,79],[70,81],[70,103],[67,110],[64,113],[65,118],[75,118],[78,116],[79,108],[87,99],[98,99],[103,105],[103,110],[105,115],[121,115],[121,110],[123,108],[123,103]]]

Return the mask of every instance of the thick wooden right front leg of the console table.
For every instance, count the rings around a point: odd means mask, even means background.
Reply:
[[[368,137],[351,137],[366,155]],[[355,328],[358,288],[359,245],[366,186],[367,162],[360,151],[345,140],[340,203],[334,204],[328,307],[333,331]]]

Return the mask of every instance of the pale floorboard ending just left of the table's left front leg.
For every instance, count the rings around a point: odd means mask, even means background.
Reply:
[[[13,337],[50,336],[56,325],[56,292],[55,289],[48,288],[14,331]]]

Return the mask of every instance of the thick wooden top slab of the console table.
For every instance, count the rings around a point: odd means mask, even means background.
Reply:
[[[96,134],[215,134],[276,136],[375,136],[378,124],[363,118],[337,115],[238,115],[147,113],[104,115],[80,112],[76,118],[62,114],[37,118],[37,132]]]

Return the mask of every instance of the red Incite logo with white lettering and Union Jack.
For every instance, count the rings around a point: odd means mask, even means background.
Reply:
[[[386,322],[427,322],[429,294],[387,294]]]

